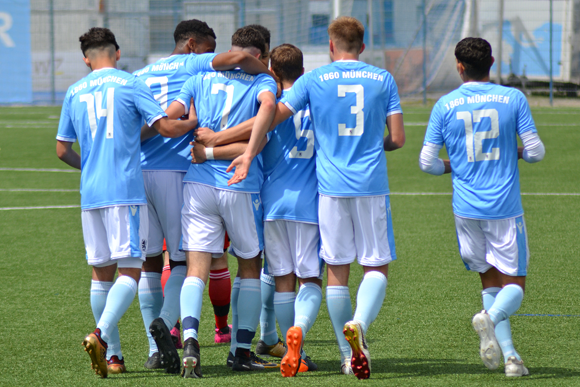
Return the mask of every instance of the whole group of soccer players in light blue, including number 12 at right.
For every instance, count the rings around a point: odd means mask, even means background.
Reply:
[[[214,31],[183,21],[172,55],[133,74],[116,69],[110,30],[80,37],[92,72],[66,94],[57,155],[81,169],[96,322],[83,347],[98,375],[126,371],[117,323],[138,292],[145,367],[202,377],[206,286],[232,371],[316,371],[305,343],[326,267],[340,372],[370,377],[365,337],[396,259],[385,151],[404,145],[405,130],[395,80],[359,61],[363,25],[339,17],[328,34],[332,63],[306,74],[300,49],[270,51],[259,25],[238,29],[231,50],[214,54]],[[464,84],[435,105],[419,166],[453,174],[460,255],[483,286],[484,310],[472,321],[481,359],[495,369],[503,354],[506,376],[523,376],[509,325],[529,260],[517,163],[540,161],[544,146],[523,94],[489,82],[489,43],[463,39],[455,55]],[[449,160],[439,158],[443,146]],[[233,286],[228,252],[238,261]],[[355,259],[364,276],[353,313]]]

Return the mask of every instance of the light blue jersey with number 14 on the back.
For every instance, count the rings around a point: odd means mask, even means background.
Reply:
[[[121,70],[95,70],[69,87],[56,139],[79,140],[83,210],[147,203],[141,125],[162,117],[147,85]]]

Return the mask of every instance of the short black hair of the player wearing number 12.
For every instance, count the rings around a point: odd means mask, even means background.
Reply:
[[[455,46],[455,57],[465,67],[465,75],[475,81],[489,75],[491,45],[485,39],[465,38]]]

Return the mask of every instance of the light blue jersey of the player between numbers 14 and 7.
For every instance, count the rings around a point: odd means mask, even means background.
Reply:
[[[171,55],[135,71],[153,92],[163,110],[177,97],[183,84],[192,75],[213,71],[212,61],[217,54]],[[156,135],[141,144],[141,167],[144,171],[164,170],[186,172],[191,164],[189,143],[193,132],[178,138]]]

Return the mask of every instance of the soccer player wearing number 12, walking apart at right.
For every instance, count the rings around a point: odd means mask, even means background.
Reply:
[[[484,310],[472,322],[481,360],[496,369],[501,348],[506,376],[523,376],[529,372],[509,323],[524,297],[529,260],[518,159],[534,163],[545,150],[524,95],[489,82],[491,54],[481,38],[465,38],[455,47],[463,85],[433,107],[419,165],[433,175],[452,173],[459,253],[483,286]],[[449,160],[438,158],[443,145]]]

